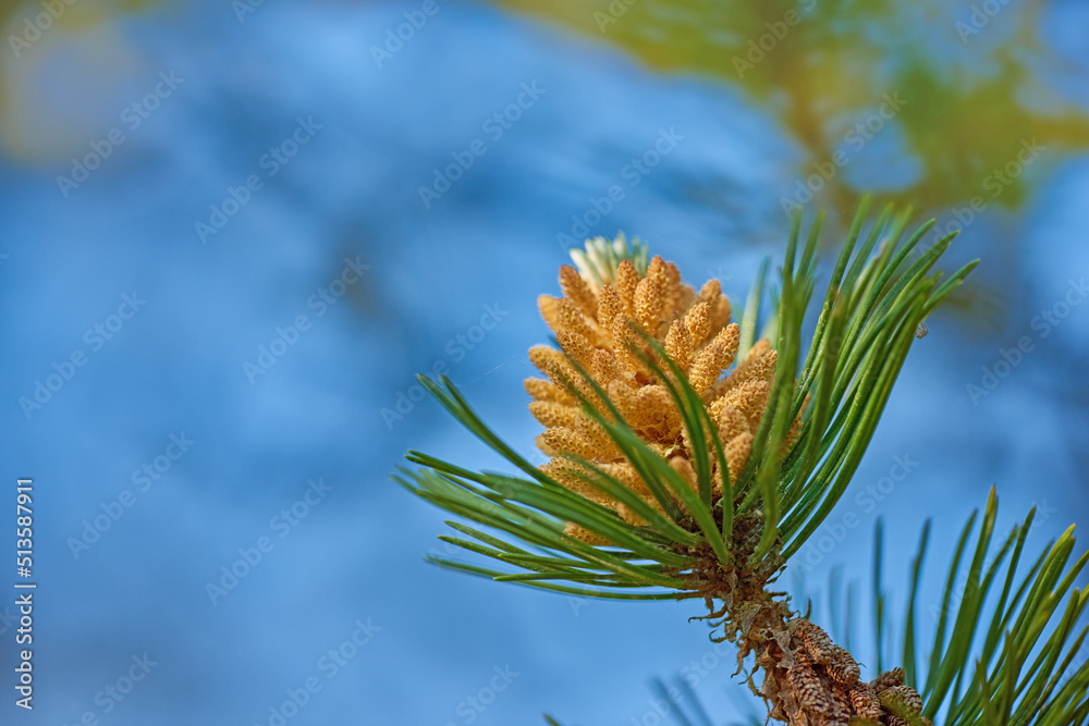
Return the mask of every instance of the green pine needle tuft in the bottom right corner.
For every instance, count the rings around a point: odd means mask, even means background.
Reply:
[[[918,674],[915,605],[929,522],[923,527],[911,564],[911,595],[903,630],[907,682],[922,696],[923,715],[946,726],[1084,724],[1089,715],[1089,664],[1082,663],[1074,673],[1067,669],[1087,633],[1076,624],[1089,604],[1089,593],[1072,589],[1072,585],[1089,554],[1070,563],[1074,538],[1067,530],[1044,549],[1015,589],[1035,510],[994,547],[996,513],[998,497],[992,489],[963,582],[962,565],[977,529],[978,513],[969,517],[957,541],[942,607],[937,613],[929,663],[925,674]],[[984,570],[987,561],[991,564]],[[1002,589],[995,593],[1000,581]],[[917,686],[920,682],[921,688]]]

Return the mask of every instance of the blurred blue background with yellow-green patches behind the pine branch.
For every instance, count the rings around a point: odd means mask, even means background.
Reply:
[[[0,601],[0,722],[653,726],[653,677],[762,721],[698,605],[440,570],[443,514],[389,478],[495,465],[413,390],[440,364],[531,447],[536,296],[588,235],[739,304],[791,209],[827,259],[872,192],[982,258],[792,567],[869,667],[879,518],[895,616],[923,519],[932,613],[992,485],[1035,551],[1086,513],[1084,2],[0,7],[0,452],[39,583],[33,713]]]

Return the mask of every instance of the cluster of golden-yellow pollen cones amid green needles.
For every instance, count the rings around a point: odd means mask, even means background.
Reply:
[[[572,491],[614,509],[625,521],[644,525],[628,507],[580,477],[582,467],[568,457],[590,460],[649,505],[662,509],[604,429],[583,410],[574,392],[591,402],[597,396],[571,365],[570,356],[608,394],[636,434],[666,458],[694,489],[693,446],[707,447],[710,459],[715,462],[713,499],[721,499],[722,472],[710,439],[690,439],[668,389],[632,349],[635,345],[647,350],[636,329],[662,344],[699,394],[718,426],[731,481],[736,481],[748,462],[754,434],[767,408],[775,350],[761,340],[744,360],[736,360],[739,329],[730,322],[730,300],[718,280],[710,280],[697,293],[681,281],[676,266],[661,257],[650,261],[645,275],[628,260],[603,273],[596,272],[584,275],[574,267],[563,266],[563,296],[542,295],[539,299],[541,316],[563,350],[546,345],[529,350],[529,359],[548,377],[526,380],[526,391],[534,398],[529,409],[546,427],[538,445],[552,457],[541,470]],[[731,366],[733,369],[723,376]],[[797,436],[800,416],[791,428],[784,452]],[[589,544],[609,544],[574,524],[568,524],[565,532]]]

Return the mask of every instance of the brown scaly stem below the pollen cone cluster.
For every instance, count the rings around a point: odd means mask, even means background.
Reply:
[[[735,521],[732,567],[723,567],[707,545],[677,545],[676,552],[694,564],[673,575],[692,583],[683,596],[707,603],[708,614],[698,619],[721,628],[711,640],[737,645],[737,673],[754,656],[746,680],[764,700],[769,717],[791,726],[932,726],[920,715],[922,699],[904,685],[902,668],[860,680],[851,653],[793,612],[786,593],[768,589],[785,563],[776,552],[756,565],[749,562],[760,539],[760,519],[749,514]],[[763,673],[759,687],[752,679],[757,670]]]

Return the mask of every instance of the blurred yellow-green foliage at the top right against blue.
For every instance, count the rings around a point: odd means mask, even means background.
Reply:
[[[736,87],[803,147],[797,181],[828,170],[837,149],[848,157],[859,150],[848,135],[879,112],[885,95],[906,101],[889,123],[914,171],[888,186],[873,179],[858,185],[938,213],[974,197],[1007,208],[1020,202],[1029,176],[1020,173],[1023,148],[1033,139],[1047,147],[1049,163],[1089,145],[1089,113],[1059,90],[1068,69],[1041,39],[1041,0],[498,2],[619,46],[656,71]],[[843,218],[861,196],[849,176],[812,184],[818,204]],[[794,196],[797,181],[784,197]]]

